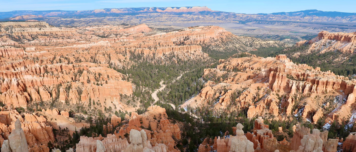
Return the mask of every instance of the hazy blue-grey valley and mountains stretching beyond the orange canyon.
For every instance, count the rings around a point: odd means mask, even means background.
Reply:
[[[208,7],[140,7],[85,11],[0,12],[0,21],[46,21],[54,26],[138,25],[185,28],[215,25],[237,35],[282,40],[290,45],[321,31],[353,32],[356,13],[305,10],[271,14],[214,11]]]

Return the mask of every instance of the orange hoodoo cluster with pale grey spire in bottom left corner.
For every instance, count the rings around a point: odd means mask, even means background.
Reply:
[[[55,139],[52,126],[48,125],[43,115],[25,113],[22,118],[16,110],[11,110],[0,112],[0,117],[1,149],[6,149],[3,146],[9,144],[12,152],[49,152],[48,143],[53,143]]]

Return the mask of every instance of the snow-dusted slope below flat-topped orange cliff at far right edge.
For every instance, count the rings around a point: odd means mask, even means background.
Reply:
[[[317,37],[303,40],[295,47],[275,53],[286,54],[297,63],[319,66],[337,75],[354,77],[356,74],[356,33],[320,32]]]

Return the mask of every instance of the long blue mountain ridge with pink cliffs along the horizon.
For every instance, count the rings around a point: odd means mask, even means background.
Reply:
[[[131,14],[131,13],[229,13],[229,14],[245,14],[233,13],[223,11],[213,11],[206,6],[193,6],[193,7],[132,7],[132,8],[107,8],[95,10],[79,10],[79,11],[64,11],[64,10],[46,10],[46,11],[33,11],[33,10],[15,10],[9,12],[0,12],[0,19],[12,18],[23,15],[36,15],[44,17],[53,16],[75,16],[75,15],[94,15],[94,14]],[[275,12],[275,13],[257,13],[245,15],[262,15],[262,16],[318,16],[318,17],[348,17],[356,16],[356,13],[336,12],[336,11],[320,11],[320,10],[302,10],[294,12]]]

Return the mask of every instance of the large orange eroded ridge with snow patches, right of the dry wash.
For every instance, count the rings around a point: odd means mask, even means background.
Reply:
[[[285,55],[243,55],[247,57],[220,60],[217,68],[205,69],[205,87],[181,107],[247,109],[248,118],[288,120],[294,115],[314,123],[321,117],[329,124],[350,119],[356,80],[294,64]]]

